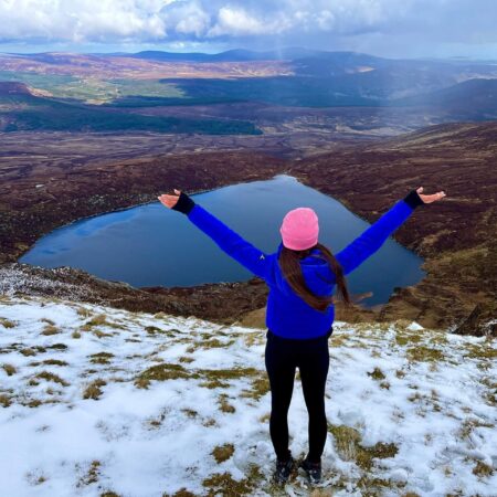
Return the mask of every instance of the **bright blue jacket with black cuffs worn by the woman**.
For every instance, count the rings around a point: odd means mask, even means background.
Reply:
[[[283,242],[275,253],[266,254],[244,240],[204,208],[194,203],[181,192],[179,210],[219,247],[256,276],[264,279],[269,288],[267,297],[266,326],[275,335],[284,338],[306,339],[327,335],[332,330],[335,306],[330,304],[325,311],[310,307],[300,298],[284,278],[278,256]],[[377,252],[388,237],[411,215],[423,201],[415,190],[399,200],[381,218],[343,250],[335,254],[347,275],[356,269],[370,255]],[[175,209],[173,208],[173,209]],[[332,295],[336,278],[328,262],[315,248],[300,260],[307,286],[316,295]]]

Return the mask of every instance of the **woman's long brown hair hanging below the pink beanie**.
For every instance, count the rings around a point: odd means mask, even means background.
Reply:
[[[322,245],[321,243],[317,243],[310,248],[306,248],[304,251],[293,251],[283,245],[282,252],[279,254],[279,266],[286,281],[290,285],[290,287],[295,290],[295,293],[299,297],[302,297],[309,306],[314,307],[316,310],[324,311],[330,304],[332,304],[334,302],[332,295],[318,296],[313,294],[310,288],[307,286],[304,275],[302,273],[300,260],[310,255],[310,252],[314,248],[319,248],[322,255],[325,256],[325,260],[328,261],[331,271],[335,273],[338,295],[340,296],[340,299],[346,304],[346,306],[350,306],[351,302],[349,290],[347,288],[346,278],[343,276],[343,269],[340,266],[340,263],[334,256],[334,254],[331,254],[329,248]],[[320,257],[320,255],[315,256]]]

